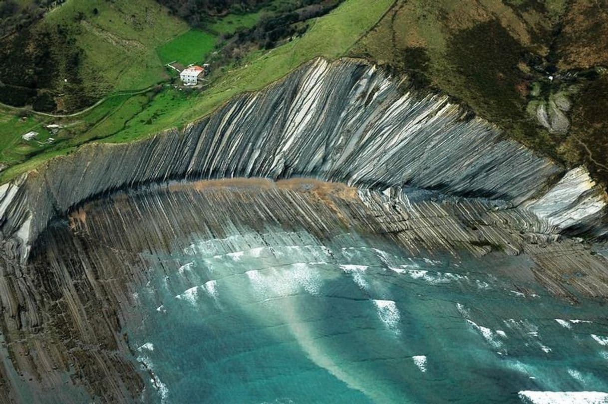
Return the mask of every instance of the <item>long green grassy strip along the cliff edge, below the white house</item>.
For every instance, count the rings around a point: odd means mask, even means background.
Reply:
[[[63,142],[5,170],[0,181],[94,139],[131,142],[164,129],[181,127],[209,114],[230,97],[261,89],[316,56],[329,59],[343,56],[392,4],[393,0],[346,0],[331,13],[310,20],[310,28],[301,38],[269,51],[250,53],[241,62],[242,67],[217,72],[212,86],[200,93],[167,88],[158,94],[112,98],[77,119],[65,118],[61,122],[74,126],[72,131],[66,131]]]

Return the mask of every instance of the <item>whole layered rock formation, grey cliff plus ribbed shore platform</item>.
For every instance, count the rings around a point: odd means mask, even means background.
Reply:
[[[239,177],[265,180],[209,187]],[[268,181],[294,177],[320,182]],[[576,302],[608,296],[608,261],[571,237],[602,238],[605,215],[606,194],[584,168],[566,172],[449,98],[364,61],[317,59],[181,131],[85,145],[0,186],[10,358],[0,396],[22,400],[27,386],[44,401],[67,380],[59,402],[139,397],[121,327],[137,316],[133,291],[151,276],[148,257],[193,235],[275,225],[322,243],[355,228],[412,254],[525,256],[526,276]]]

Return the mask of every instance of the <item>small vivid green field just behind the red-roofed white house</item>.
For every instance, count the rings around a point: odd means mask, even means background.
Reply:
[[[209,32],[191,29],[157,47],[156,52],[162,63],[177,61],[186,66],[205,61],[217,41],[217,36]]]

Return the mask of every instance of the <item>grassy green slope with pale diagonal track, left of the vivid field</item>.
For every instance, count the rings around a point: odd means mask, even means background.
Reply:
[[[154,0],[67,0],[41,24],[70,30],[85,51],[81,75],[100,94],[143,89],[167,79],[155,49],[188,30]]]

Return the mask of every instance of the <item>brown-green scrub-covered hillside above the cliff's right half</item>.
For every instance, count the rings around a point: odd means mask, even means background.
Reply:
[[[607,184],[606,119],[594,107],[608,100],[606,36],[606,1],[399,0],[351,55],[451,95],[506,135],[565,165],[585,163]],[[570,128],[541,126],[537,106],[564,94],[573,94]]]

